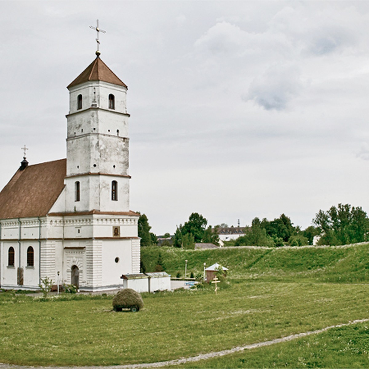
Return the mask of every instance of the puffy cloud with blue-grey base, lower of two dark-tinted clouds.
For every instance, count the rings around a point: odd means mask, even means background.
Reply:
[[[302,88],[299,69],[290,65],[275,65],[251,82],[243,99],[254,100],[266,110],[284,110]]]

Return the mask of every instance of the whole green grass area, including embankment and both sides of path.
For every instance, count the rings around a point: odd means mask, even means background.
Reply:
[[[180,263],[178,255],[194,265],[201,265],[205,256],[208,265],[233,260],[232,266],[224,263],[230,268],[231,283],[217,295],[212,287],[144,294],[145,306],[138,313],[111,311],[111,296],[37,301],[2,292],[0,362],[78,366],[156,362],[369,318],[368,246],[317,249],[316,254],[314,249],[305,250],[282,249],[280,260],[268,249],[215,250],[219,254],[213,256],[209,251],[168,250],[172,261],[162,250],[164,262],[173,269]],[[365,368],[368,325],[335,328],[184,366]]]

